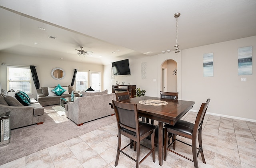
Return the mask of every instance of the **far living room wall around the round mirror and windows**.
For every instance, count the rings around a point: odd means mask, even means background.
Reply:
[[[0,82],[2,89],[5,90],[7,89],[6,65],[35,65],[38,79],[40,82],[40,88],[56,86],[58,84],[62,86],[71,85],[74,75],[74,69],[84,71],[99,71],[101,72],[101,74],[103,74],[103,65],[82,62],[70,62],[61,59],[46,59],[43,57],[27,57],[23,55],[12,55],[9,53],[0,53],[0,63],[5,63],[5,65],[0,65]],[[55,67],[60,67],[64,69],[66,73],[64,79],[55,80],[52,78],[51,71]],[[101,81],[103,81],[103,75],[101,77]],[[103,86],[101,90],[102,89]],[[30,98],[36,98],[36,87],[34,85],[34,81],[32,81],[32,95],[30,95]]]

